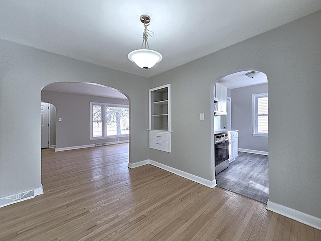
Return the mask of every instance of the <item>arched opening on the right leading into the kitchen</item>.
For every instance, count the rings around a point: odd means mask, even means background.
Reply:
[[[251,71],[258,73],[252,78],[246,75]],[[264,203],[268,200],[267,85],[262,71],[242,69],[221,75],[211,86],[216,183]]]

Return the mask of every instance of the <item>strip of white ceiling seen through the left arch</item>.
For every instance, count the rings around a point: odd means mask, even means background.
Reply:
[[[92,83],[56,82],[48,84],[42,90],[127,99],[125,95],[113,88]]]

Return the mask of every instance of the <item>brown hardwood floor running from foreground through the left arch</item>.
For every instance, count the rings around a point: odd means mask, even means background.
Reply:
[[[0,240],[321,240],[260,202],[127,163],[128,144],[43,150],[45,193],[0,209]]]

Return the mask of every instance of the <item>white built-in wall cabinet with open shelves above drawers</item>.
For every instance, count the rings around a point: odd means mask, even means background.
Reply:
[[[149,148],[171,152],[171,84],[149,90]]]

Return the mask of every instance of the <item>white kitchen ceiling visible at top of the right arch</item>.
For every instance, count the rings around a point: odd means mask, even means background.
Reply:
[[[228,87],[229,89],[241,88],[250,85],[264,84],[267,83],[266,74],[260,72],[254,78],[249,78],[245,73],[250,72],[251,70],[240,71],[237,73],[229,74],[223,77],[218,82]]]

